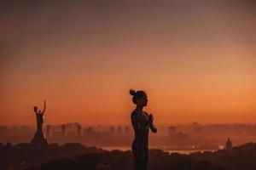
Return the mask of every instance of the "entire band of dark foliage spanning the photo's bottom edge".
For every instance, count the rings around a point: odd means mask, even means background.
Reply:
[[[190,155],[149,150],[148,170],[254,170],[256,144],[232,151],[196,152]],[[0,169],[17,170],[131,170],[131,151],[100,150],[82,144],[49,144],[44,149],[30,144],[0,144]]]

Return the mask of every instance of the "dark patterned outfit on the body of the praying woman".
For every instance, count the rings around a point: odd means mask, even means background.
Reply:
[[[148,114],[137,111],[131,113],[131,123],[135,138],[132,143],[134,170],[146,170],[148,167]]]

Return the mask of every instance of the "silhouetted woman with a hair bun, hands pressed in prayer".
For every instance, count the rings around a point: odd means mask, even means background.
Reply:
[[[137,105],[131,113],[131,124],[135,132],[132,143],[134,169],[146,170],[148,167],[148,129],[150,128],[153,133],[157,133],[157,129],[154,127],[152,114],[148,115],[143,111],[143,107],[148,103],[147,94],[134,90],[130,90],[130,94],[133,96],[132,102]]]

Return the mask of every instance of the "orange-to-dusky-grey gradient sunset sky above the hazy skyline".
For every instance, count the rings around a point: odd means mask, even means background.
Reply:
[[[92,3],[93,2],[93,3]],[[0,3],[0,124],[256,122],[256,3]]]

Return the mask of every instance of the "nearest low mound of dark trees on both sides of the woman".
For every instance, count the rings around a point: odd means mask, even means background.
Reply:
[[[102,153],[74,156],[73,158],[49,161],[41,167],[29,170],[132,170],[131,151],[105,151]],[[189,156],[168,154],[162,150],[150,150],[148,170],[218,170],[209,161],[193,161]]]

